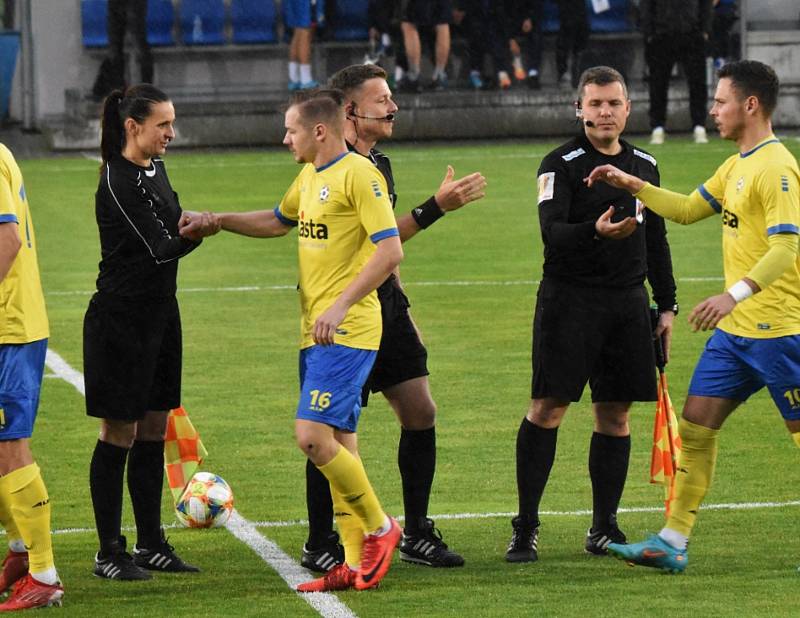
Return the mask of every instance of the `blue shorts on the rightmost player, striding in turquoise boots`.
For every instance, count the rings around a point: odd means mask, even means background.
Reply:
[[[751,339],[715,330],[697,362],[689,394],[746,401],[763,386],[784,419],[800,420],[800,335]]]

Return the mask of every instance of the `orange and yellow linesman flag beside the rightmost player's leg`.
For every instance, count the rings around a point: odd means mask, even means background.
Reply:
[[[681,452],[678,419],[667,390],[667,374],[658,372],[658,402],[653,424],[653,451],[650,458],[650,482],[664,486],[664,507],[669,517],[675,497],[675,471]]]

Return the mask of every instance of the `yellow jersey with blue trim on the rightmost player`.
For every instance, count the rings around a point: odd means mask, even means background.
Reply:
[[[771,234],[800,234],[800,171],[774,135],[730,157],[699,191],[722,215],[726,288],[767,252]],[[737,304],[718,326],[741,337],[800,334],[800,257],[765,290]]]

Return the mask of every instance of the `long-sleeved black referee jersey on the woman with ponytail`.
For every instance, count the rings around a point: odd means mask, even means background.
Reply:
[[[174,296],[177,259],[200,244],[178,235],[181,212],[160,158],[149,168],[121,156],[103,165],[95,194],[97,290],[128,299]]]

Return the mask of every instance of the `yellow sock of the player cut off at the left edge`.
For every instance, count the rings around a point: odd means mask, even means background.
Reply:
[[[0,495],[28,548],[31,574],[54,572],[50,497],[39,466],[33,463],[0,477]]]

